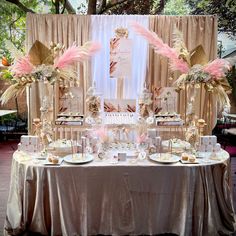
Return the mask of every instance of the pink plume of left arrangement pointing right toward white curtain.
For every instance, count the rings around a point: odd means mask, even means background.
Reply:
[[[101,45],[96,42],[87,42],[81,47],[73,44],[56,60],[54,66],[59,69],[64,69],[74,62],[82,62],[99,51],[100,48]]]

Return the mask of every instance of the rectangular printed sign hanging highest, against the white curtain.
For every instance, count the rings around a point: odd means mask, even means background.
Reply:
[[[110,40],[110,78],[131,78],[132,40],[112,38]]]

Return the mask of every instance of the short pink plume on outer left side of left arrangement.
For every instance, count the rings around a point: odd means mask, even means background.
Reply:
[[[16,76],[23,76],[30,74],[32,70],[34,69],[33,64],[31,64],[29,56],[24,56],[19,58],[14,65],[11,67],[11,71]]]

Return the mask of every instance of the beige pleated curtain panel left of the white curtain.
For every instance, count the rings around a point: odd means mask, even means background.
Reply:
[[[50,42],[64,44],[66,48],[71,46],[73,42],[82,45],[90,38],[90,16],[29,13],[26,18],[26,29],[27,50],[31,48],[35,40],[39,40],[46,46],[49,46]],[[89,62],[80,63],[77,71],[80,86],[84,91],[87,91],[91,84]],[[33,118],[40,117],[39,108],[38,87],[32,86],[29,104],[29,131],[31,130]]]

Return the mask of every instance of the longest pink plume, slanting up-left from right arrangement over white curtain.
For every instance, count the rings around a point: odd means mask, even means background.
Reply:
[[[189,71],[188,63],[179,58],[177,52],[169,45],[165,44],[156,33],[144,28],[137,22],[132,22],[131,26],[136,33],[142,35],[149,42],[149,44],[154,47],[158,54],[170,59],[170,68],[172,70],[179,70],[182,73],[187,73]]]

